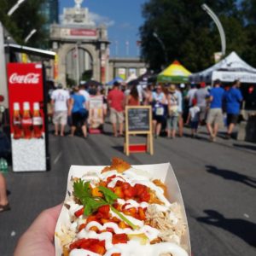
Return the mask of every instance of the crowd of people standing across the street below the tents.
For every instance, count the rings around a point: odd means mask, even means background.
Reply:
[[[240,82],[221,84],[216,80],[212,86],[205,84],[148,84],[137,85],[115,82],[112,89],[84,85],[64,90],[61,84],[52,91],[51,106],[55,136],[64,136],[65,126],[70,125],[69,136],[80,128],[88,137],[90,97],[102,96],[103,120],[109,116],[113,125],[113,137],[124,136],[125,106],[152,106],[154,137],[166,135],[183,137],[183,125],[191,128],[191,137],[196,137],[198,127],[207,125],[210,141],[214,142],[218,128],[227,125],[229,139],[236,125],[241,108]],[[109,113],[109,115],[108,115]],[[224,119],[226,113],[226,119]],[[60,127],[59,127],[60,126]]]

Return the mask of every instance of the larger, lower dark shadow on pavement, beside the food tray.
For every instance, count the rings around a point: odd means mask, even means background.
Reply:
[[[227,230],[252,247],[256,247],[256,224],[241,218],[225,218],[223,214],[214,210],[204,212],[207,213],[207,217],[198,217],[197,221]]]

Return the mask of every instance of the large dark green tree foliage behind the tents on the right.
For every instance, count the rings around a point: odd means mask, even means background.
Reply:
[[[201,8],[203,3],[218,15],[224,27],[226,54],[235,50],[245,61],[255,63],[256,58],[249,54],[252,48],[255,49],[251,39],[255,42],[255,0],[150,0],[143,4],[145,21],[140,34],[143,58],[152,69],[160,71],[163,65],[175,59],[191,72],[201,71],[214,63],[214,53],[221,51],[220,37],[212,18]],[[165,47],[161,47],[154,33]]]

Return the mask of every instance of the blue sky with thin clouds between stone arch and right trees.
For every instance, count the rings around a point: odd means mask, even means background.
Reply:
[[[147,0],[84,0],[82,7],[89,9],[97,23],[108,25],[110,55],[137,56],[139,26],[143,25],[142,4]],[[73,7],[73,0],[60,0],[60,15],[64,7]],[[127,43],[128,42],[128,46]]]

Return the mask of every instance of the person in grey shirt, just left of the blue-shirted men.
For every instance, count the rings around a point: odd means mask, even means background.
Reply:
[[[195,100],[197,107],[200,108],[200,123],[201,125],[206,124],[207,118],[207,96],[209,92],[206,88],[206,83],[201,82],[200,88],[195,91]]]

